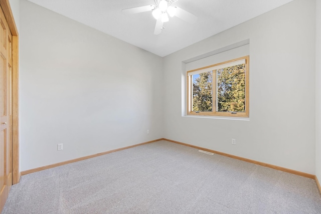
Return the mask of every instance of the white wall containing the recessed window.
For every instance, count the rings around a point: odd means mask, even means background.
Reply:
[[[313,0],[293,1],[165,57],[164,137],[314,174],[314,7]],[[250,119],[182,116],[182,62],[247,39]]]

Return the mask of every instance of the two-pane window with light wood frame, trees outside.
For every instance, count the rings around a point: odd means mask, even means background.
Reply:
[[[187,114],[249,116],[249,56],[187,72]]]

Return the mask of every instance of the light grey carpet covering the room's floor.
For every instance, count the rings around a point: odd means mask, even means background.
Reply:
[[[27,174],[2,213],[321,213],[313,179],[158,141]]]

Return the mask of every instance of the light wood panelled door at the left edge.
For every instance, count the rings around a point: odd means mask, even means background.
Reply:
[[[12,186],[12,35],[0,11],[0,211]]]

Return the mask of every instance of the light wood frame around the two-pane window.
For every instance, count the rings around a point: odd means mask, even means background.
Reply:
[[[216,105],[214,104],[215,98],[216,97],[216,92],[217,92],[217,82],[216,82],[216,72],[213,72],[212,74],[212,97],[213,97],[213,110],[211,112],[196,112],[196,111],[192,111],[193,109],[193,99],[192,99],[192,84],[193,84],[193,80],[192,80],[192,75],[190,75],[190,73],[192,72],[197,72],[200,70],[204,70],[204,72],[206,72],[206,70],[208,69],[208,71],[211,71],[211,68],[213,67],[218,67],[220,65],[224,65],[224,64],[228,64],[228,63],[232,63],[235,61],[239,61],[239,60],[245,60],[245,112],[218,112],[216,111]],[[224,116],[224,117],[249,117],[249,113],[250,113],[250,101],[249,101],[249,63],[250,63],[250,57],[249,56],[245,56],[245,57],[240,57],[237,59],[233,59],[233,60],[229,60],[226,62],[222,62],[222,63],[217,63],[214,65],[210,65],[210,66],[206,66],[206,67],[202,67],[202,68],[198,68],[195,70],[191,70],[191,71],[187,71],[186,76],[187,76],[187,115],[194,115],[194,116]],[[213,69],[214,71],[215,69]],[[202,72],[203,73],[203,72]],[[215,86],[215,87],[214,87]]]

